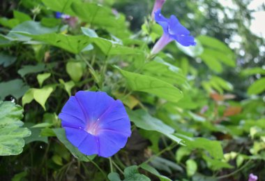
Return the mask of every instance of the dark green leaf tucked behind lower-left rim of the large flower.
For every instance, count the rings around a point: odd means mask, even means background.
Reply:
[[[62,128],[58,129],[52,129],[54,133],[56,134],[57,138],[63,143],[63,145],[66,146],[66,148],[73,154],[74,157],[79,159],[80,161],[91,161],[96,155],[86,156],[85,154],[82,154],[79,152],[77,147],[72,145],[66,138],[66,131]]]

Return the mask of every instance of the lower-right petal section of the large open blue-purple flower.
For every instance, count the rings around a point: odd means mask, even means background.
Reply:
[[[100,157],[112,157],[113,154],[121,150],[126,145],[128,136],[122,134],[104,131],[98,136],[99,152]]]

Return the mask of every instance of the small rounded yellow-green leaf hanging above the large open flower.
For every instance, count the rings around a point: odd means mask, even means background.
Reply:
[[[83,62],[68,61],[66,64],[66,72],[68,73],[68,75],[70,75],[70,78],[75,82],[78,82],[82,78],[83,70]]]

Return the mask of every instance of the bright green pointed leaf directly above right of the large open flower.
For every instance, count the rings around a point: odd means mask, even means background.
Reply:
[[[148,75],[123,71],[120,68],[119,71],[123,77],[126,78],[127,83],[132,91],[155,94],[162,99],[172,102],[178,102],[179,99],[183,97],[182,92],[178,88],[167,82]],[[165,94],[165,92],[167,94]]]

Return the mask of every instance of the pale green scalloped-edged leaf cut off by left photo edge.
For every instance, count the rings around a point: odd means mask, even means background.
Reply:
[[[24,137],[30,136],[31,131],[20,128],[24,123],[21,106],[13,102],[0,101],[0,155],[17,155],[23,151]]]

